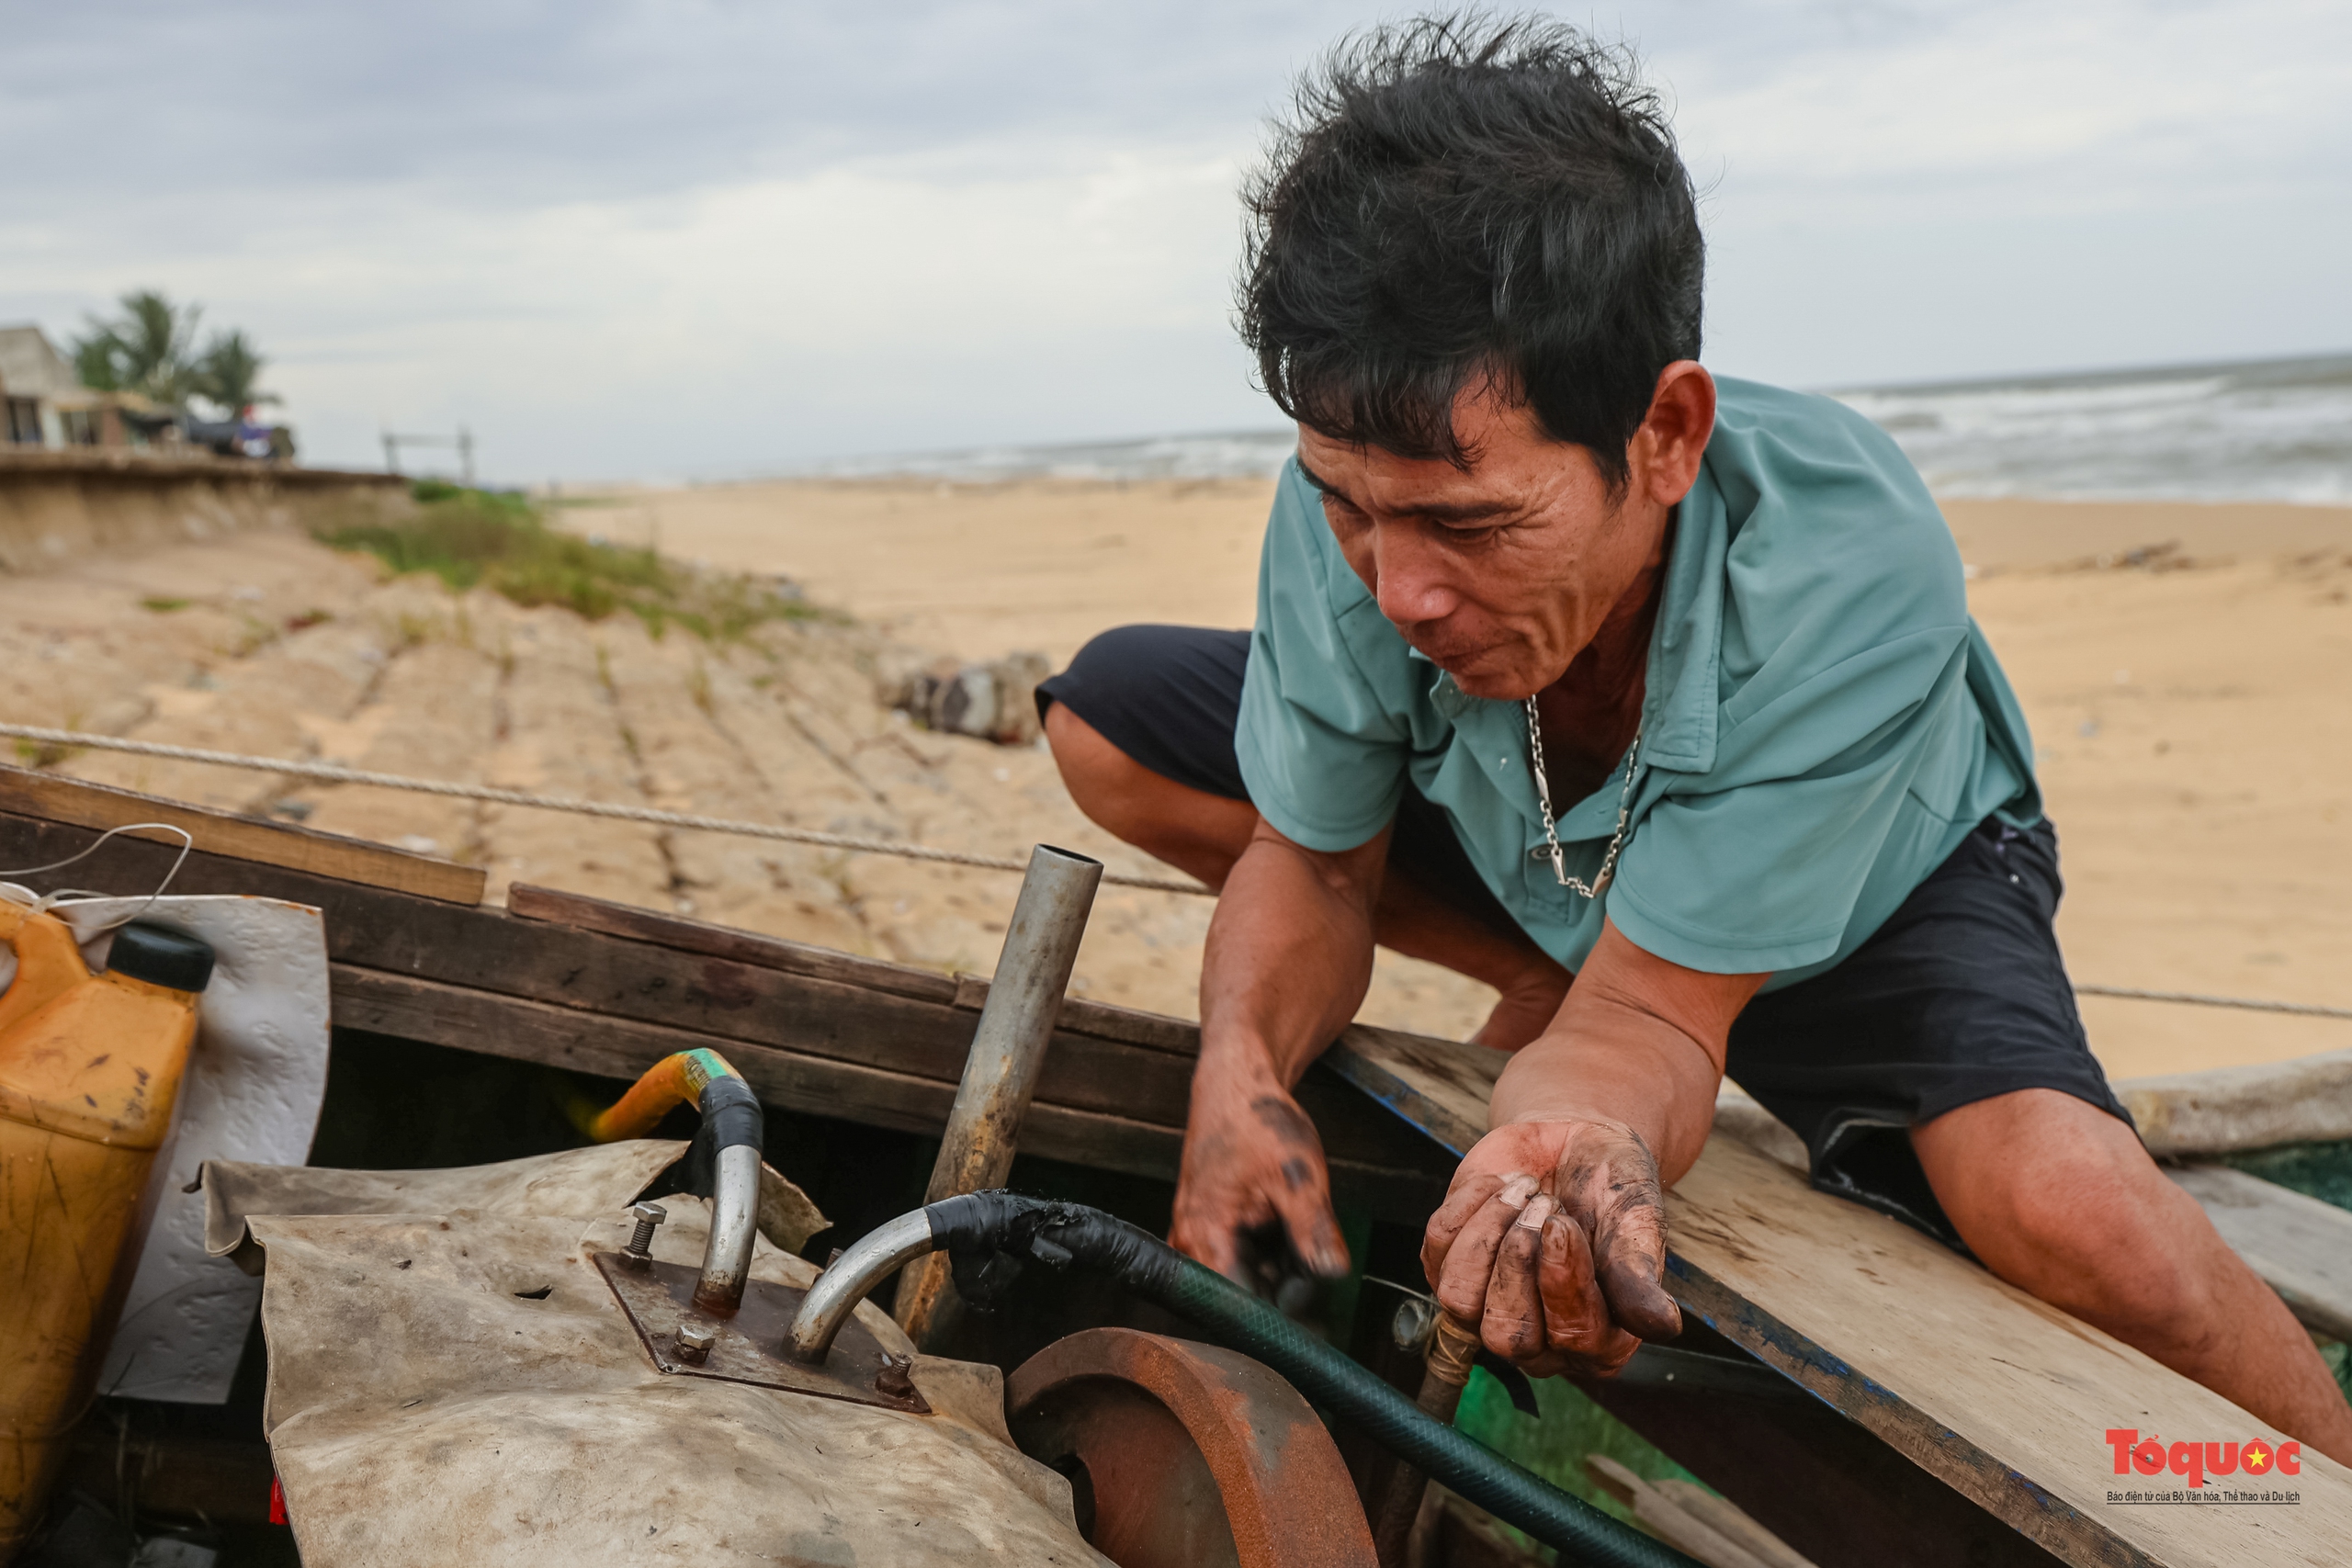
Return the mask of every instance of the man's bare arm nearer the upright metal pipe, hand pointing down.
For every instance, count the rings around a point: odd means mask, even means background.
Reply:
[[[1322,1143],[1291,1086],[1371,985],[1388,835],[1322,853],[1261,818],[1218,896],[1169,1241],[1223,1274],[1240,1274],[1235,1232],[1277,1220],[1310,1269],[1348,1272]]]

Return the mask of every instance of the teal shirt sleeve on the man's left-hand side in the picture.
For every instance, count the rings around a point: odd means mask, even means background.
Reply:
[[[1258,813],[1317,851],[1364,844],[1404,795],[1409,724],[1381,701],[1348,644],[1350,614],[1369,604],[1315,489],[1296,463],[1284,468],[1258,557],[1258,623],[1232,748]]]

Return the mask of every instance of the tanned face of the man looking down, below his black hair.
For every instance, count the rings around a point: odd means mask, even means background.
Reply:
[[[1712,416],[1712,388],[1708,402]],[[1543,435],[1526,407],[1465,393],[1454,428],[1475,454],[1468,470],[1305,425],[1298,463],[1348,564],[1406,642],[1470,696],[1534,696],[1663,557],[1672,503],[1646,482],[1642,437],[1635,482],[1611,496],[1592,454]]]

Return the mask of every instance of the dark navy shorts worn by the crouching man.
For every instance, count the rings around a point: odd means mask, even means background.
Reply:
[[[1249,799],[1232,750],[1249,632],[1124,625],[1037,686],[1176,783]],[[1406,788],[1388,851],[1423,896],[1515,929],[1444,811]],[[1813,1185],[1959,1246],[1907,1128],[2018,1088],[2126,1124],[2058,957],[2058,835],[1980,823],[1837,969],[1764,992],[1731,1025],[1731,1079],[1813,1157]]]

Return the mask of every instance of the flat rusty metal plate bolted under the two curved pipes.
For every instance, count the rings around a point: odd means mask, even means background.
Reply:
[[[842,1333],[833,1340],[833,1354],[826,1356],[823,1366],[807,1366],[786,1356],[783,1331],[800,1309],[804,1291],[753,1279],[743,1291],[743,1309],[724,1319],[694,1305],[694,1281],[701,1279],[699,1269],[689,1269],[682,1262],[661,1262],[659,1258],[640,1262],[628,1253],[607,1251],[595,1251],[590,1258],[621,1302],[621,1314],[644,1342],[644,1354],[663,1373],[755,1382],[767,1389],[847,1399],[913,1415],[931,1413],[931,1406],[913,1382],[906,1385],[906,1394],[887,1394],[875,1387],[884,1366],[891,1366],[891,1356],[856,1316],[842,1324]],[[715,1335],[710,1354],[701,1366],[677,1354],[677,1328],[682,1324],[701,1324]]]

